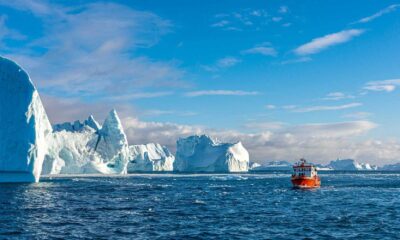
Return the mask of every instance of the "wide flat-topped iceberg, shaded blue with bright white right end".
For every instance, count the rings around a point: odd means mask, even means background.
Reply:
[[[179,172],[247,172],[249,153],[238,143],[220,143],[209,136],[177,141],[174,170]]]

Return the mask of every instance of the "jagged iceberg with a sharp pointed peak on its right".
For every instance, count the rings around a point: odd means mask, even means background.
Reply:
[[[129,147],[115,110],[102,127],[92,116],[83,124],[55,125],[42,174],[125,174]]]

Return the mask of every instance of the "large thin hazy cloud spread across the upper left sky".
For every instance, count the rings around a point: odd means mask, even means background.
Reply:
[[[177,88],[184,71],[175,61],[136,54],[152,47],[172,24],[145,11],[113,3],[66,9],[44,1],[3,1],[30,11],[43,23],[43,36],[7,57],[23,65],[42,93],[96,97],[129,95],[142,88]],[[35,48],[43,49],[41,52]]]

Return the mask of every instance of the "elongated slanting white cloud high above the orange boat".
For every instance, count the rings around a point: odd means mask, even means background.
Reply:
[[[343,30],[337,33],[332,33],[325,35],[323,37],[314,38],[311,42],[301,45],[296,48],[294,52],[297,55],[309,55],[318,53],[324,49],[327,49],[331,46],[345,43],[364,33],[362,29],[349,29]]]

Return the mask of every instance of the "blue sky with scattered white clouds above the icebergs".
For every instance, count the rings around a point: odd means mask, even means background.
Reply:
[[[400,161],[400,2],[0,0],[0,54],[50,121],[117,109],[130,144]]]

